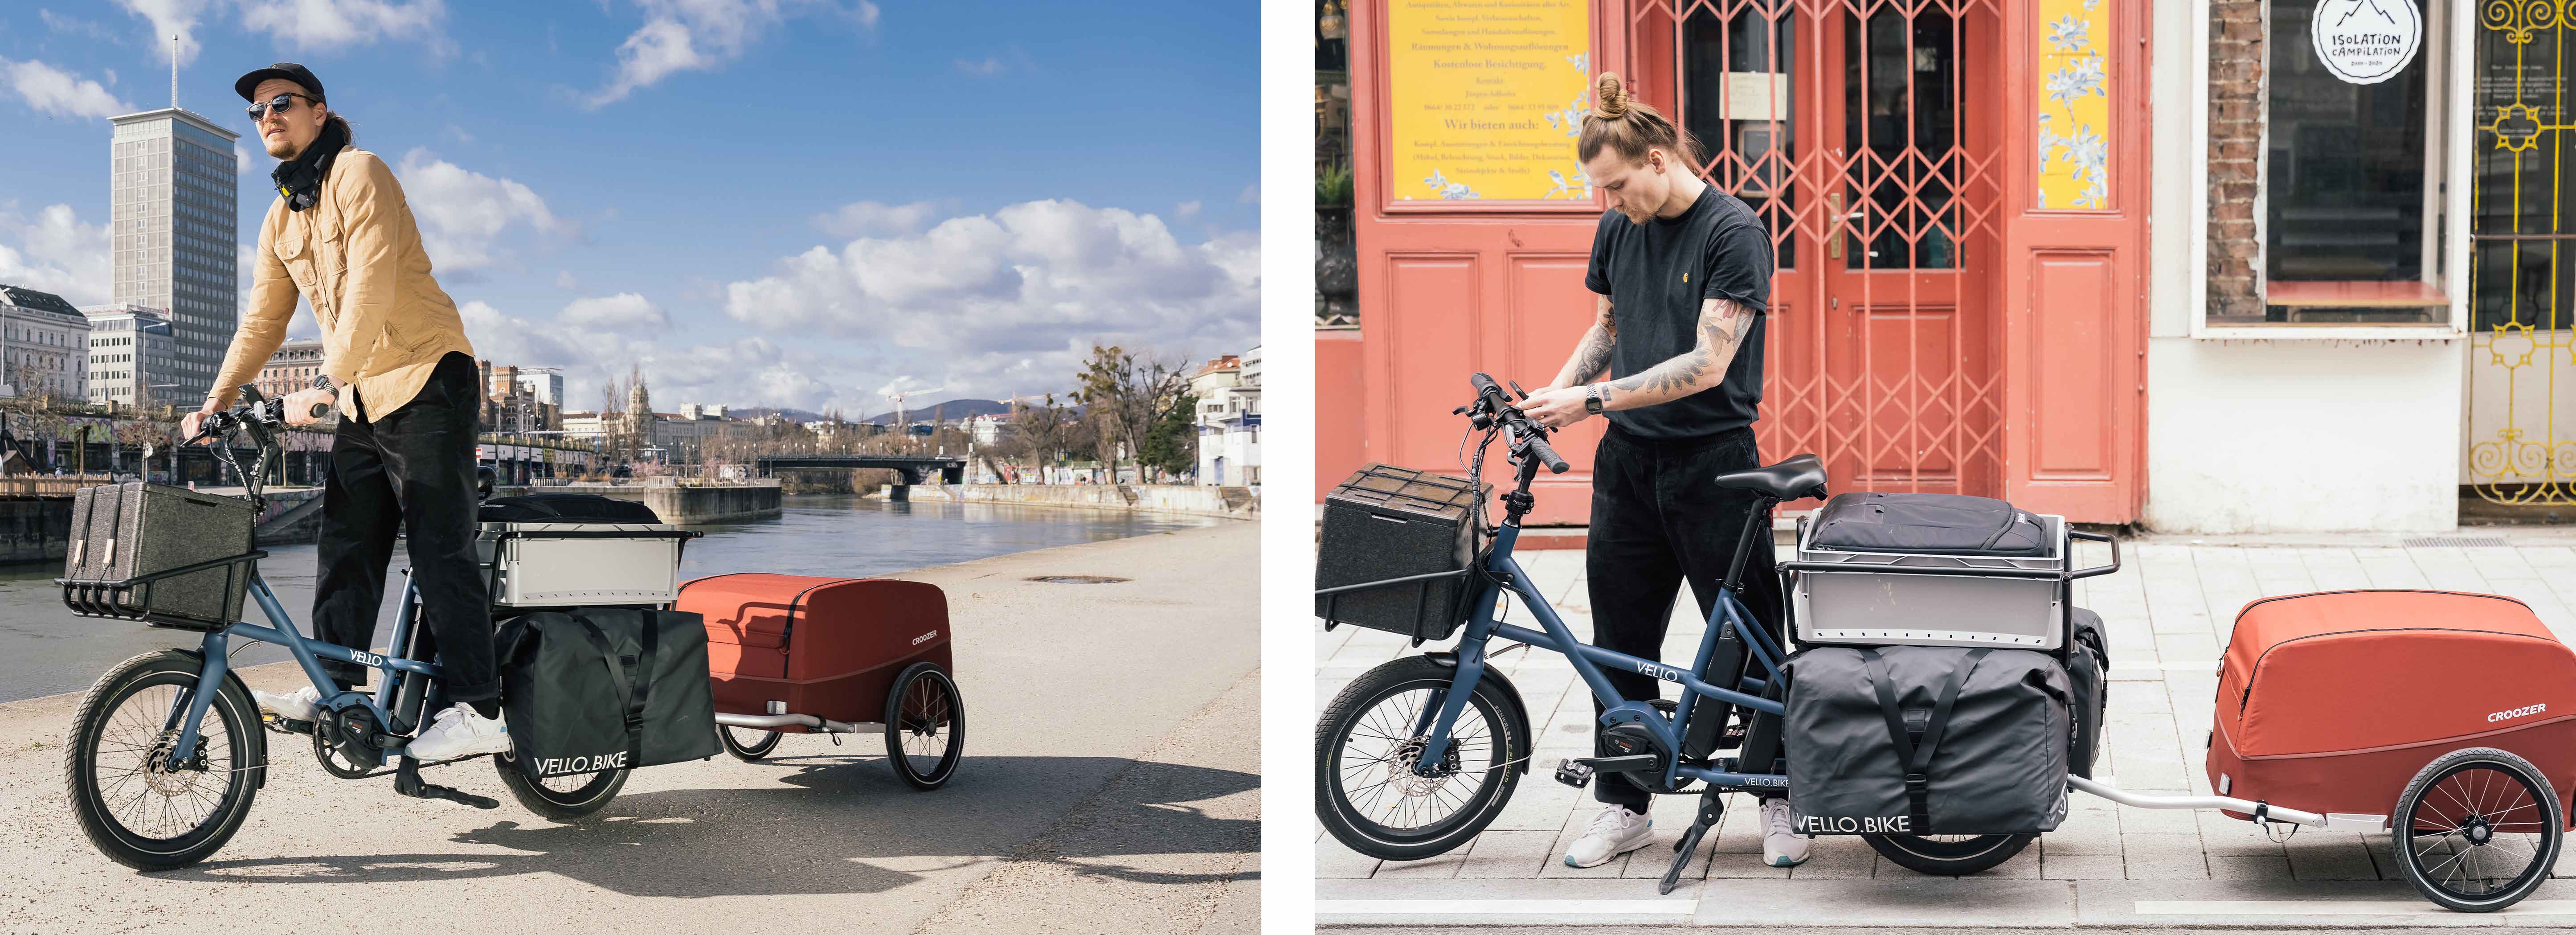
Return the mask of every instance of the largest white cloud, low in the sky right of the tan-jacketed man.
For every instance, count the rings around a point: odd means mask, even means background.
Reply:
[[[961,394],[1061,384],[1095,340],[1170,353],[1260,335],[1260,240],[1180,242],[1162,219],[1028,201],[920,234],[781,258],[726,283],[724,312],[788,335],[850,335],[948,366]]]

